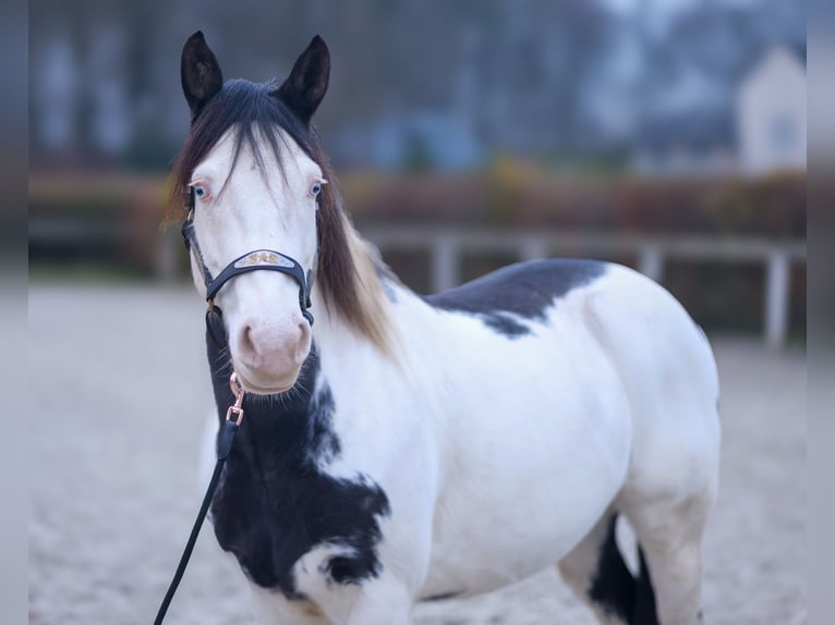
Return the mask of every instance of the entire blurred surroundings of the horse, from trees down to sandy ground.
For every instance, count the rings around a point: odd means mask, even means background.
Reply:
[[[179,229],[160,230],[196,29],[227,78],[256,81],[325,38],[325,151],[358,228],[418,292],[541,256],[669,289],[723,387],[706,620],[806,622],[804,1],[33,0],[29,14],[29,624],[150,622],[198,503],[203,303]],[[204,531],[172,622],[246,622],[229,571]],[[552,571],[415,623],[557,614],[593,623]]]

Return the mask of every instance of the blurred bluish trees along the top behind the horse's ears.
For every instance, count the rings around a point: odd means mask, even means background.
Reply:
[[[804,40],[802,1],[710,0],[653,16],[645,53],[625,54],[625,34],[641,20],[613,7],[610,0],[33,0],[33,162],[58,152],[80,163],[129,158],[167,168],[187,119],[180,49],[197,28],[227,77],[253,79],[282,78],[314,34],[325,37],[331,87],[317,122],[326,139],[346,128],[367,136],[380,120],[406,126],[419,115],[451,115],[469,124],[487,152],[528,156],[589,146],[605,151],[622,139],[632,120],[624,85],[639,72],[620,57],[643,63],[649,78],[640,91],[651,105],[690,71],[727,94],[759,47]],[[63,138],[50,143],[61,123]]]

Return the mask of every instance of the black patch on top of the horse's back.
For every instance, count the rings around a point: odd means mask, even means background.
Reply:
[[[435,308],[469,312],[508,339],[530,334],[519,318],[544,322],[554,301],[606,272],[600,260],[552,258],[503,267],[425,299]]]

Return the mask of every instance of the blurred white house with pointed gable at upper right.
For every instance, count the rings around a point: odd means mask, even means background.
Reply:
[[[806,63],[775,46],[737,89],[740,169],[751,175],[806,170]]]

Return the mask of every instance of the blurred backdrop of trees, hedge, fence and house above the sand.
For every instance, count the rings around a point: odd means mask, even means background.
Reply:
[[[332,54],[317,124],[349,210],[420,292],[596,256],[709,331],[806,331],[806,11],[797,0],[241,0],[31,5],[31,260],[180,280],[160,235],[187,126],[179,57],[227,77]]]

